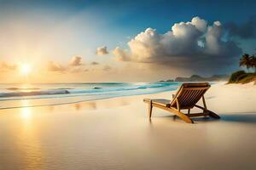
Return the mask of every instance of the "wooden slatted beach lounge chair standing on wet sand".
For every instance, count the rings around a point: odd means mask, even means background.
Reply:
[[[174,115],[179,116],[184,122],[193,123],[190,117],[194,116],[211,116],[213,118],[219,119],[220,117],[216,113],[207,110],[204,94],[210,87],[211,85],[208,82],[183,83],[181,87],[178,88],[177,93],[172,95],[172,100],[143,99],[143,101],[148,103],[149,118],[151,118],[152,108],[154,106],[172,112]],[[196,105],[200,99],[202,99],[203,106]],[[190,114],[190,110],[194,107],[201,109],[202,112]],[[181,110],[188,110],[188,113],[185,114]]]

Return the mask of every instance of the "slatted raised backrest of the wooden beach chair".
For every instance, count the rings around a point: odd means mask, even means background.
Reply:
[[[177,107],[178,102],[180,109],[191,109],[210,87],[208,82],[183,83],[172,99],[171,106]]]

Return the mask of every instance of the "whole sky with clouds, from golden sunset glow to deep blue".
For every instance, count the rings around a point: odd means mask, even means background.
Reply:
[[[2,82],[230,74],[256,53],[253,1],[1,1]]]

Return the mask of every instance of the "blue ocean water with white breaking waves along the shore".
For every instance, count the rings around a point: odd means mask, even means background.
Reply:
[[[181,82],[0,84],[0,109],[65,105],[176,90]]]

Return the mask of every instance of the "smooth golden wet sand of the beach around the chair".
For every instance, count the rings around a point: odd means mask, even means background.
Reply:
[[[143,98],[0,111],[0,169],[255,169],[256,86],[216,84],[220,120],[185,123]]]

